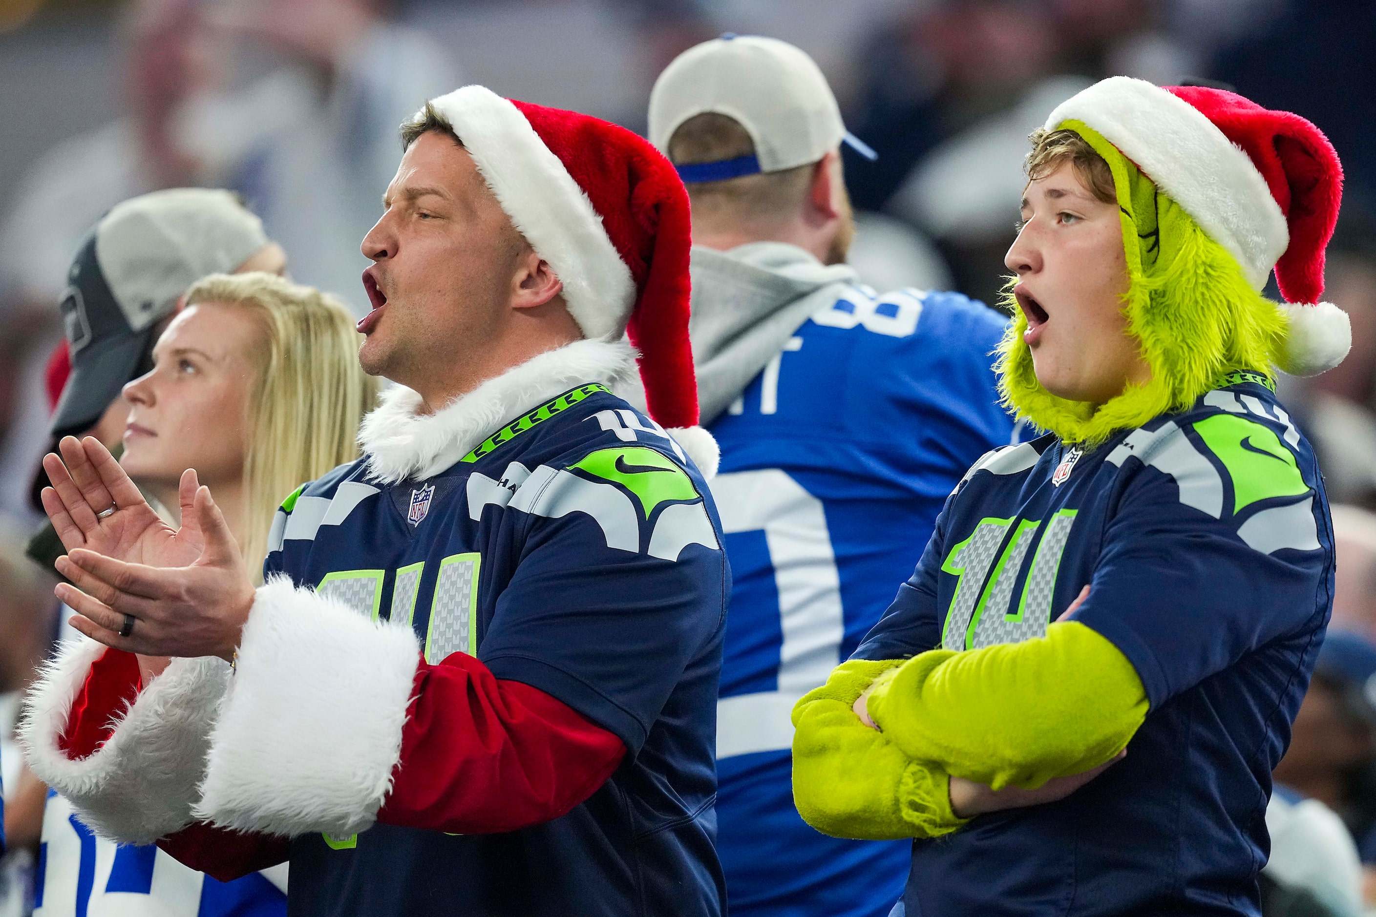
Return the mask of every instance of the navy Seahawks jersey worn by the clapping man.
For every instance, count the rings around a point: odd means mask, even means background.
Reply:
[[[700,474],[644,414],[583,385],[432,478],[336,469],[283,506],[266,572],[409,621],[427,661],[473,654],[627,748],[585,803],[522,830],[296,837],[293,917],[722,912],[713,740],[731,573]]]

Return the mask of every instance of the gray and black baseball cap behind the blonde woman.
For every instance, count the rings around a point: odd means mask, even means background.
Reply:
[[[61,308],[72,375],[52,434],[94,426],[139,375],[153,330],[186,289],[235,271],[267,243],[261,220],[217,188],[169,188],[111,208],[67,271]]]

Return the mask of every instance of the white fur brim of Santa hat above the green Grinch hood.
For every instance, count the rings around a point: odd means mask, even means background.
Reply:
[[[1046,129],[1066,121],[1102,133],[1237,258],[1252,287],[1266,286],[1289,246],[1285,214],[1252,159],[1198,109],[1145,80],[1112,77],[1057,106]]]

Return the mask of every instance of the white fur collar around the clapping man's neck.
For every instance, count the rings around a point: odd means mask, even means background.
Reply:
[[[433,414],[417,414],[421,396],[395,385],[363,418],[359,445],[369,477],[383,484],[427,478],[458,459],[512,418],[563,395],[575,385],[611,385],[636,371],[636,351],[626,341],[574,341],[513,366]]]

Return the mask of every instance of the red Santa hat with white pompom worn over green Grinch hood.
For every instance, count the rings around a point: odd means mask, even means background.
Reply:
[[[1347,356],[1347,313],[1318,301],[1343,195],[1343,168],[1318,128],[1236,92],[1130,77],[1072,96],[1046,129],[1066,121],[1083,121],[1137,164],[1237,258],[1255,289],[1274,268],[1289,319],[1280,368],[1317,375]]]

